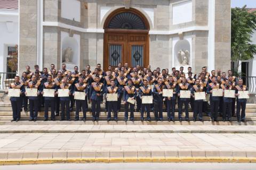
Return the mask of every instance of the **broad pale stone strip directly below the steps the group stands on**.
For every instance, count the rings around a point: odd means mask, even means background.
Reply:
[[[0,125],[0,133],[256,133],[247,125]]]

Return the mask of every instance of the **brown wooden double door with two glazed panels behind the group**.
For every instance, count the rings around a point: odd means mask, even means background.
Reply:
[[[113,69],[118,63],[128,63],[129,67],[137,65],[147,67],[149,64],[148,33],[105,32],[103,68]]]

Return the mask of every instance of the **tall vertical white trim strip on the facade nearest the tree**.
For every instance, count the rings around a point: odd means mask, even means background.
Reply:
[[[208,10],[208,70],[215,69],[215,0],[209,0]]]

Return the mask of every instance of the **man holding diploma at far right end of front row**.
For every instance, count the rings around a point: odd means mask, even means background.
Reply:
[[[238,91],[246,91],[247,87],[243,85],[243,79],[238,80],[238,84],[236,86],[236,118],[237,122],[245,122],[245,108],[246,108],[246,99],[245,98],[238,98],[239,94]],[[242,113],[240,115],[240,110],[242,108]]]

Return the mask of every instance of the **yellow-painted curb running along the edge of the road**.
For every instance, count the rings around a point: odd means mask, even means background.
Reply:
[[[141,157],[141,158],[81,158],[81,159],[13,159],[0,160],[0,165],[54,163],[256,163],[256,157]]]

